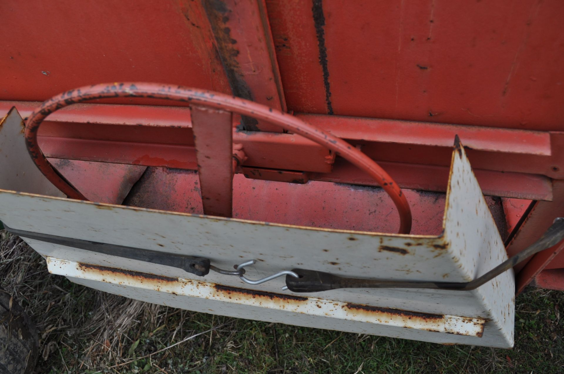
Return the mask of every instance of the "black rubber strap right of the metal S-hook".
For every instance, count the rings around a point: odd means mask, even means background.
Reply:
[[[564,239],[564,218],[557,218],[547,231],[524,251],[502,262],[492,270],[470,282],[425,282],[425,281],[385,281],[381,279],[361,279],[340,277],[324,271],[292,269],[299,278],[286,276],[286,286],[292,292],[321,292],[338,288],[430,288],[433,290],[470,291],[491,281],[501,273],[513,268],[528,257],[556,246]]]

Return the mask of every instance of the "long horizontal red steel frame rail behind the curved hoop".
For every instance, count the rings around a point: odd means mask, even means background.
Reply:
[[[27,118],[40,104],[0,101],[0,110],[7,112],[15,105],[22,117]],[[563,152],[564,145],[561,148],[553,146],[563,139],[559,133],[503,128],[474,129],[469,126],[371,118],[335,119],[323,114],[297,114],[297,117],[358,146],[380,163],[402,188],[446,191],[448,165],[445,159],[448,159],[448,152],[451,150],[446,138],[451,135],[453,138],[455,133],[459,134],[464,144],[470,144],[471,149],[467,153],[482,190],[487,195],[550,201],[553,199],[550,178],[531,173],[535,169],[529,162],[521,162],[520,158],[534,158],[537,163],[543,163],[540,168],[547,171],[551,171],[553,167],[559,168],[561,165],[558,158],[564,158],[559,155]],[[233,126],[238,123],[239,118],[233,116]],[[395,133],[378,135],[380,131],[390,127],[396,128]],[[418,134],[424,134],[427,127],[431,127],[438,137],[424,135],[419,138]],[[190,108],[76,104],[50,115],[38,132],[38,140],[49,158],[196,170],[192,135]],[[360,137],[363,139],[359,140]],[[537,148],[534,145],[521,147],[523,140],[536,144]],[[349,163],[337,160],[332,164],[331,154],[326,148],[301,136],[234,131],[233,142],[244,146],[249,157],[244,166],[275,169],[278,171],[272,174],[277,178],[275,180],[285,181],[287,176],[292,180],[294,175],[288,171],[300,171],[311,172],[310,180],[374,185],[371,177],[351,167]],[[396,152],[387,153],[387,157],[386,154],[372,152],[382,147],[409,151],[414,146],[420,147],[420,152],[411,157],[409,153],[404,154],[400,162],[386,160]],[[433,154],[428,157],[427,164],[422,163],[421,157],[418,157],[423,152]],[[442,153],[445,154],[444,157],[440,157]],[[492,167],[488,160],[493,158],[504,158],[505,163]]]

